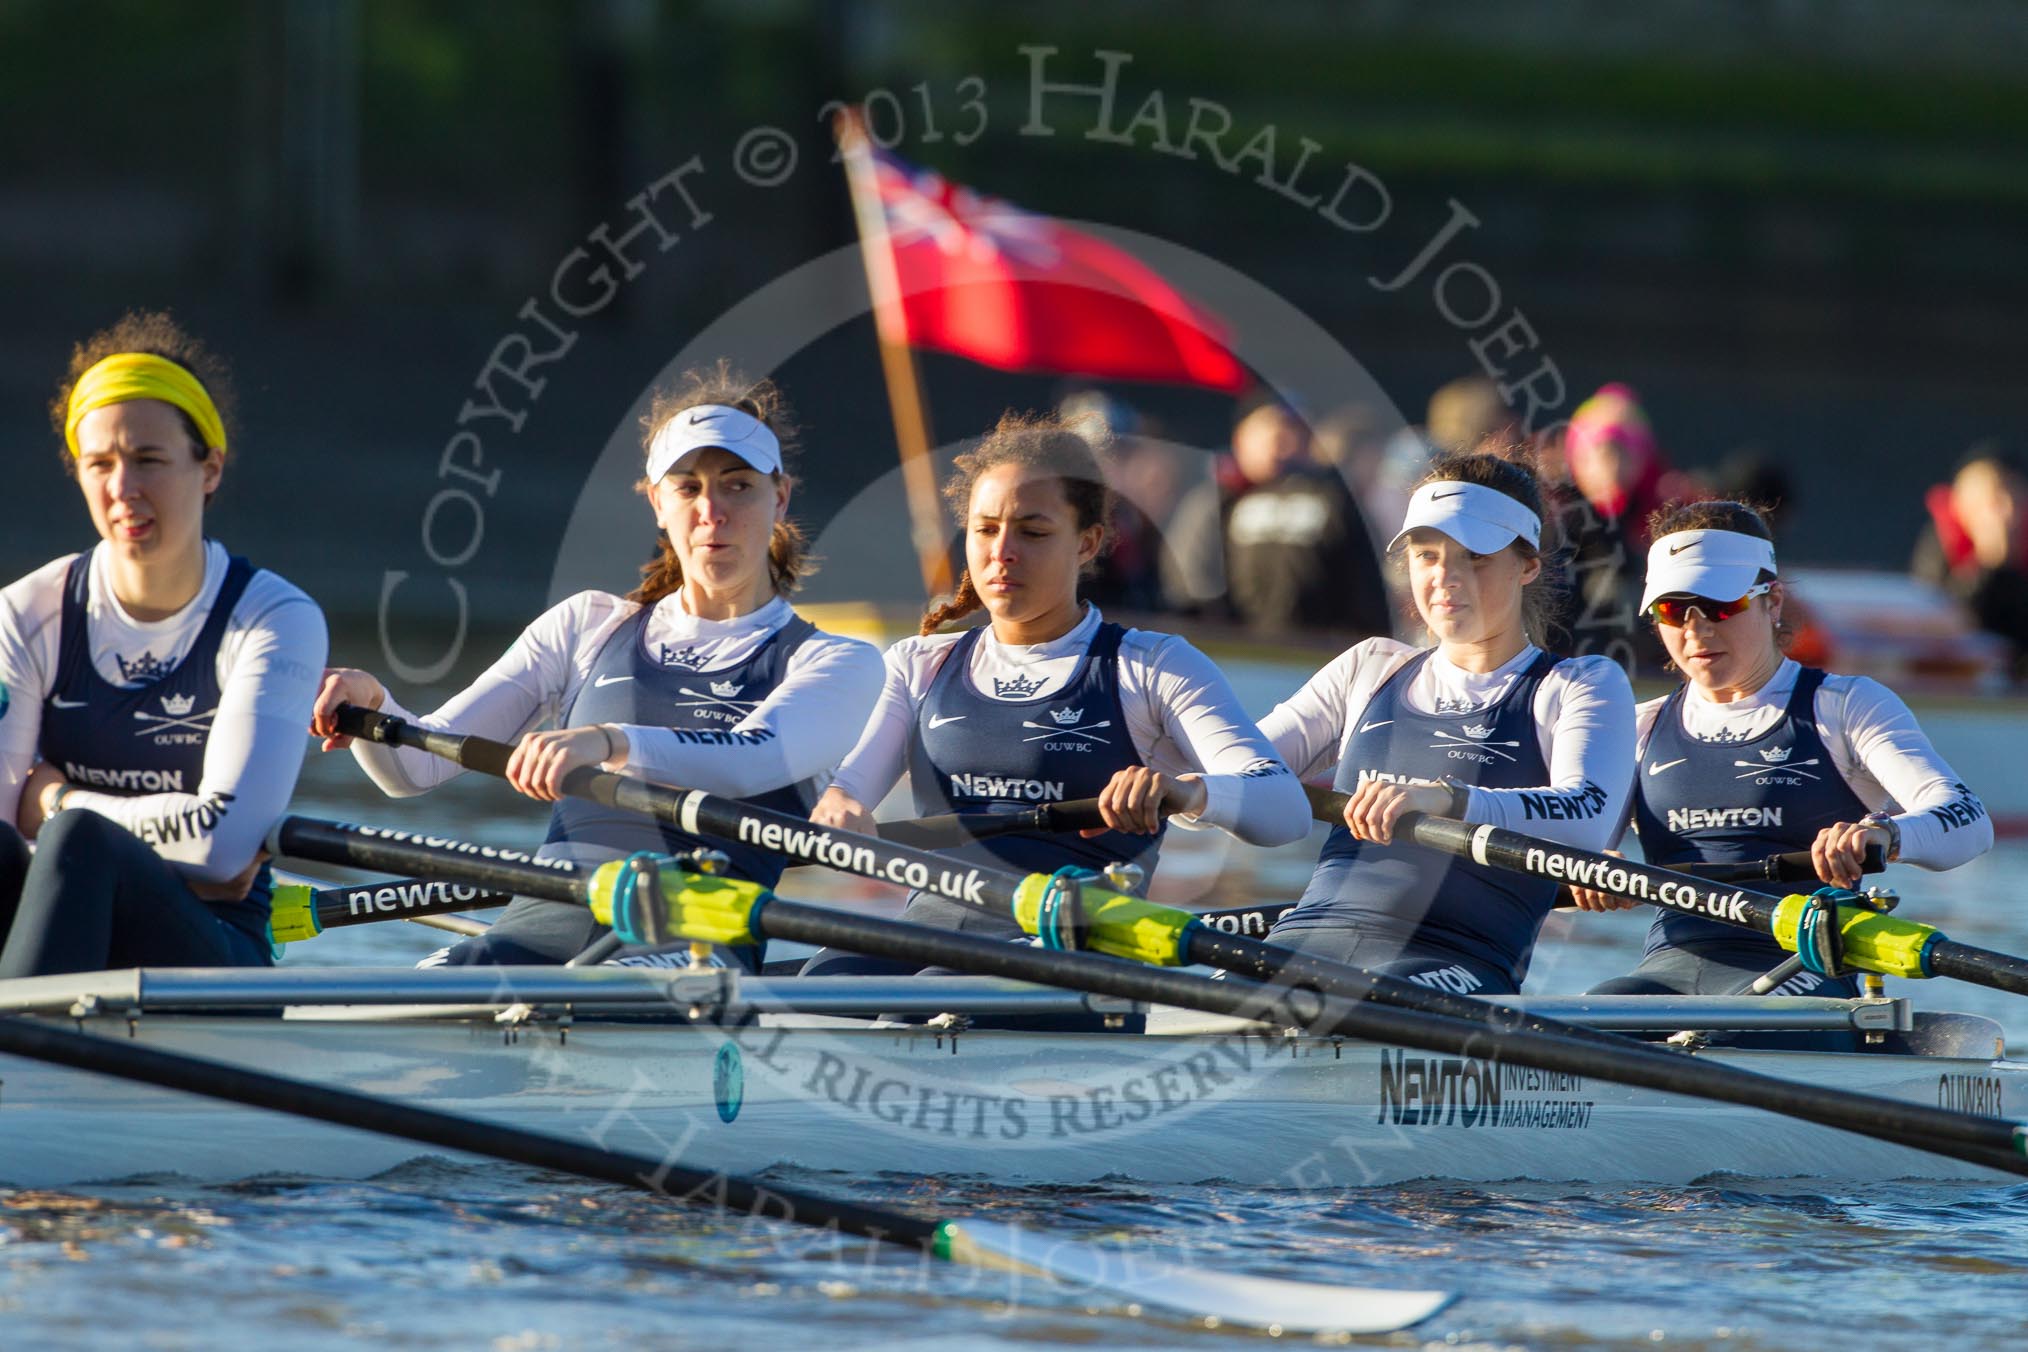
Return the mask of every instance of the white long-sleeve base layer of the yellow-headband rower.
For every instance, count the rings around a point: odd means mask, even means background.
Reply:
[[[0,590],[0,811],[6,821],[14,821],[22,782],[37,762],[43,701],[57,681],[63,584],[75,557],[53,559]],[[183,663],[211,616],[229,564],[225,545],[207,541],[205,584],[191,604],[164,620],[142,622],[114,596],[105,545],[95,545],[85,632],[99,677],[138,685],[126,679],[126,669]],[[205,740],[197,793],[128,797],[75,788],[63,807],[118,821],[193,882],[235,878],[254,861],[296,791],[329,643],[316,602],[276,574],[256,570],[219,639],[219,711]],[[221,803],[231,811],[215,811]],[[213,811],[203,811],[207,805]]]

